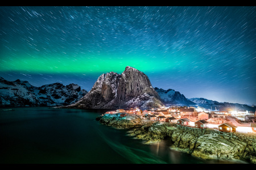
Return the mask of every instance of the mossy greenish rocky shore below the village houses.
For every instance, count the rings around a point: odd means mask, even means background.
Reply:
[[[143,120],[139,117],[117,118],[100,116],[101,124],[117,129],[131,129],[129,135],[142,139],[144,144],[158,143],[171,138],[172,150],[187,152],[203,159],[242,160],[256,164],[256,135],[233,133],[220,135],[217,130],[192,131]]]

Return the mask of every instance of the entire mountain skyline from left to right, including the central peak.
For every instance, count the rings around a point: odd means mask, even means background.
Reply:
[[[159,108],[163,105],[193,105],[220,111],[253,111],[245,104],[220,103],[204,98],[187,99],[180,92],[153,88],[147,75],[127,66],[122,74],[102,74],[87,92],[77,84],[61,83],[32,86],[27,81],[9,82],[0,78],[0,107],[5,106],[57,106],[67,108]]]

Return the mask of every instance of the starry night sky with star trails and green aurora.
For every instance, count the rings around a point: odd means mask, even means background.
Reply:
[[[0,7],[0,76],[75,83],[126,66],[187,98],[256,104],[256,7]]]

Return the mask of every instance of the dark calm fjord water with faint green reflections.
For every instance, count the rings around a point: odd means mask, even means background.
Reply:
[[[7,108],[5,108],[7,109]],[[168,149],[170,141],[143,145],[139,139],[101,125],[106,110],[0,109],[0,163],[232,163],[202,160]]]

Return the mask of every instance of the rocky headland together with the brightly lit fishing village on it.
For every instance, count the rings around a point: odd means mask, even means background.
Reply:
[[[128,129],[127,135],[145,145],[163,140],[170,150],[201,159],[256,164],[255,113],[202,111],[195,107],[117,109],[96,118],[100,124]],[[241,121],[241,114],[246,121]]]

